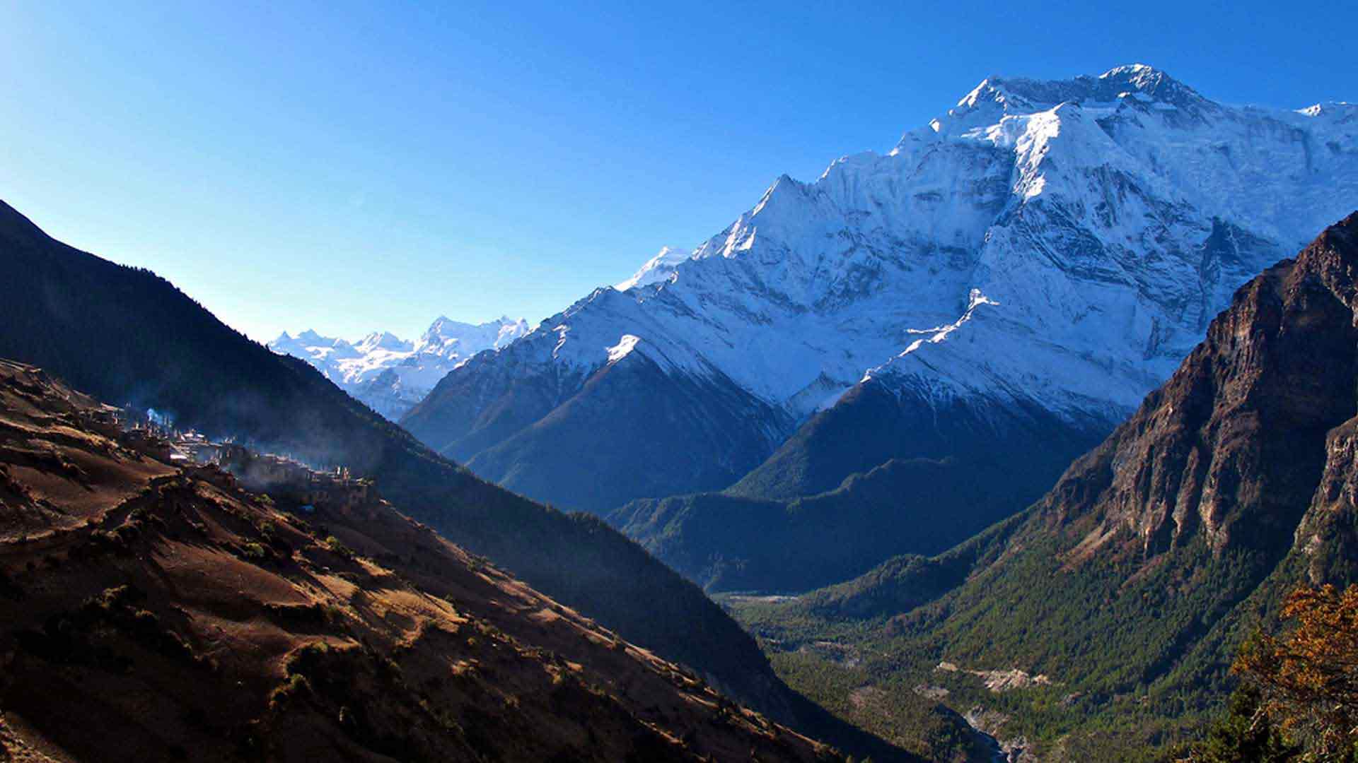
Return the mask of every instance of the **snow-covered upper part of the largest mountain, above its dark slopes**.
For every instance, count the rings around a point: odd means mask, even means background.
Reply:
[[[857,382],[975,288],[1014,339],[1065,350],[1055,365],[1130,377],[1100,395],[1130,409],[1236,286],[1358,206],[1354,111],[1226,107],[1139,64],[989,79],[885,156],[779,178],[623,300],[572,307],[557,358],[606,362],[617,339],[574,341],[603,320],[785,405],[822,375]]]

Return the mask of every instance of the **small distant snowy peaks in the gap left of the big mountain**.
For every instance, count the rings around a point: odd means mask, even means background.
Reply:
[[[397,420],[471,356],[508,346],[527,333],[521,318],[475,326],[440,316],[414,342],[375,331],[350,343],[307,330],[296,337],[284,331],[269,349],[310,362],[372,410]]]

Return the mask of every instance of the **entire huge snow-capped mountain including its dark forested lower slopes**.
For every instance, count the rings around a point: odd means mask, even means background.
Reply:
[[[887,538],[936,553],[1038,500],[1237,286],[1358,208],[1355,109],[1225,106],[1139,64],[987,79],[459,365],[402,426],[718,591],[851,577]],[[830,504],[854,519],[805,509]],[[930,513],[953,529],[881,529]],[[837,525],[883,544],[779,578]]]

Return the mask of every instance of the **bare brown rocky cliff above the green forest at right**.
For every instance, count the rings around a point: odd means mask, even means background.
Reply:
[[[1355,276],[1358,215],[1236,295],[1169,382],[1042,504],[1063,524],[1092,521],[1073,562],[1128,534],[1146,558],[1194,536],[1218,554],[1277,553],[1313,497],[1342,498]]]

